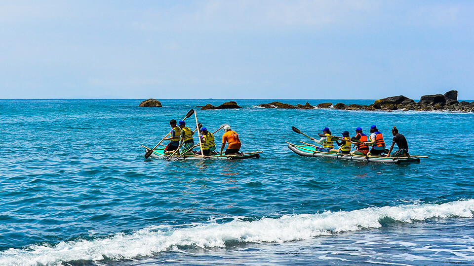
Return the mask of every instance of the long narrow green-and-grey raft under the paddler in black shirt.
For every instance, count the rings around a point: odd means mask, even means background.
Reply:
[[[360,161],[367,163],[386,163],[386,164],[406,164],[406,163],[419,163],[420,158],[416,157],[365,157],[362,155],[349,155],[342,153],[329,153],[329,152],[320,152],[316,151],[316,148],[310,145],[296,145],[288,143],[288,148],[294,153],[300,156],[308,157],[326,157],[333,159],[342,159],[349,161]]]

